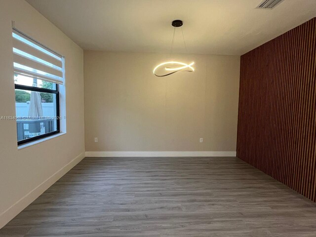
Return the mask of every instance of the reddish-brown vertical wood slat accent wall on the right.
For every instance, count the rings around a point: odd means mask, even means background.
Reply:
[[[237,157],[316,201],[316,18],[241,56]]]

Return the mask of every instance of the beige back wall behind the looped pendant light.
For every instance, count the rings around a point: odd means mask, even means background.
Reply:
[[[84,51],[86,151],[236,151],[240,57],[176,55],[196,71],[155,77],[167,56]]]

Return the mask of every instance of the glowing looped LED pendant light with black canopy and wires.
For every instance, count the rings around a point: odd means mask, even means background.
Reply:
[[[172,44],[171,44],[171,50],[170,50],[170,58],[172,55],[172,51],[173,51],[173,44],[174,44],[174,36],[175,36],[175,32],[176,32],[176,28],[181,27],[183,25],[183,22],[181,20],[174,20],[171,24],[174,29],[173,29],[173,37],[172,37]],[[182,32],[182,37],[183,37],[183,41],[184,41],[184,46],[186,48],[187,51],[187,45],[186,45],[186,41],[184,40],[184,35],[183,35],[183,30],[181,28],[181,32]],[[154,75],[156,77],[165,77],[165,76],[169,76],[171,74],[177,73],[177,72],[194,72],[194,68],[192,67],[192,65],[194,65],[194,62],[186,64],[183,62],[176,62],[176,61],[167,61],[167,62],[163,62],[158,64],[155,68],[154,68]],[[157,70],[161,69],[162,67],[164,67],[164,73],[157,73]],[[163,69],[161,69],[163,70]],[[161,71],[159,70],[159,71]]]

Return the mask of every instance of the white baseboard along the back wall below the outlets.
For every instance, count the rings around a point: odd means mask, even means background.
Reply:
[[[236,157],[236,152],[85,152],[85,157]]]

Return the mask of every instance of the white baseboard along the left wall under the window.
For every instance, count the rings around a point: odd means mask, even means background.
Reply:
[[[68,164],[43,181],[39,186],[33,189],[31,192],[20,198],[12,206],[0,213],[0,229],[5,226],[10,220],[12,220],[17,214],[19,214],[24,208],[30,205],[36,198],[38,198],[45,190],[71,170],[76,164],[78,164],[84,158],[84,152],[78,157],[71,160]]]

